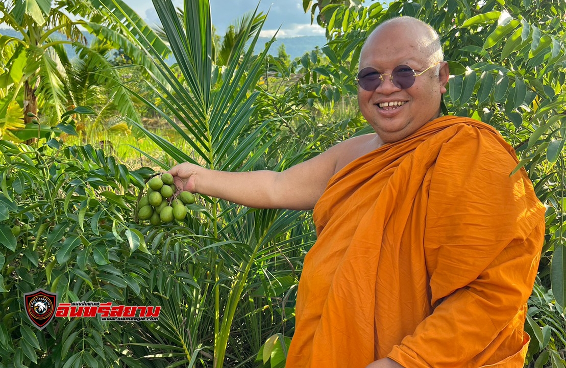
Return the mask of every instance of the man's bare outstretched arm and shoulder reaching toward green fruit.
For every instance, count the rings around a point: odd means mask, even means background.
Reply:
[[[344,157],[351,156],[354,147],[369,141],[367,136],[350,138],[282,172],[215,171],[190,163],[178,164],[169,172],[178,188],[190,192],[249,207],[310,210],[324,192],[328,180],[344,166],[344,161],[348,161]]]

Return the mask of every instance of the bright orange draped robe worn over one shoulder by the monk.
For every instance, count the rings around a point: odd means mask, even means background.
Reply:
[[[494,128],[445,116],[331,178],[287,368],[522,367],[544,206]]]

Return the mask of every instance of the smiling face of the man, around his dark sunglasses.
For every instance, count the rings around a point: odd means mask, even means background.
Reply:
[[[419,72],[438,60],[430,61],[419,47],[418,27],[391,24],[368,38],[362,50],[359,70],[371,67],[380,73],[391,73],[404,64]],[[426,50],[426,47],[423,49]],[[432,67],[415,78],[407,89],[401,89],[385,75],[381,84],[371,91],[358,86],[358,103],[363,116],[386,143],[396,142],[413,134],[424,124],[439,116],[440,98],[446,92],[448,64]],[[393,105],[393,106],[384,106]]]

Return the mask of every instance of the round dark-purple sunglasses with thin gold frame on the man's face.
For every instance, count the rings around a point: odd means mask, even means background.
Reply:
[[[363,68],[358,73],[358,77],[355,79],[358,81],[359,86],[363,89],[372,91],[379,87],[381,82],[383,82],[384,77],[386,75],[389,76],[391,83],[395,85],[397,88],[407,89],[415,83],[415,78],[422,73],[430,70],[430,68],[440,64],[441,62],[436,62],[432,64],[430,67],[426,68],[422,72],[418,73],[414,71],[413,68],[406,65],[399,65],[391,71],[391,73],[380,73],[376,71],[374,68]]]

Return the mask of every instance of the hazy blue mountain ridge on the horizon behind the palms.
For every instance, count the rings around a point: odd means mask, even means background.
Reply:
[[[0,28],[0,34],[6,34],[7,36],[18,37],[21,38],[20,34],[14,29],[9,28]],[[57,34],[59,38],[63,38],[62,34]],[[87,37],[87,42],[90,43],[94,36],[89,33],[85,33],[85,37]],[[259,37],[258,43],[255,45],[255,53],[259,54],[263,51],[265,44],[271,40],[271,37]],[[327,44],[326,37],[324,36],[301,36],[301,37],[286,37],[286,38],[276,38],[276,41],[273,42],[271,47],[269,47],[269,54],[277,55],[277,49],[281,44],[285,45],[285,52],[289,54],[291,60],[302,57],[303,54],[316,49],[319,47],[321,49],[324,45]],[[76,56],[75,50],[70,45],[65,45],[67,49],[67,54],[69,58],[72,59]]]

